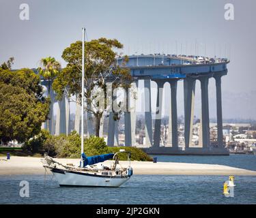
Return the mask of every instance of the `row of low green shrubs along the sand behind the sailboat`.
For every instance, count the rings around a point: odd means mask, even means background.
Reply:
[[[94,156],[106,153],[117,153],[120,149],[130,151],[131,160],[152,161],[152,158],[135,147],[109,147],[106,145],[104,138],[91,136],[84,140],[85,155]],[[81,157],[81,137],[76,131],[68,136],[51,136],[48,131],[42,130],[38,136],[25,143],[23,151],[27,153],[48,153],[51,157],[59,158],[80,158]],[[120,160],[127,160],[126,153],[119,154]]]

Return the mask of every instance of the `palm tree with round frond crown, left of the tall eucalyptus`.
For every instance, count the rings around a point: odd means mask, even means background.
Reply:
[[[46,57],[40,60],[40,67],[38,67],[39,74],[45,79],[48,80],[48,97],[51,98],[51,84],[56,78],[57,74],[61,69],[61,64],[55,60],[54,57]],[[53,104],[51,104],[50,118],[47,120],[47,129],[51,131],[49,120],[52,119],[53,114]]]

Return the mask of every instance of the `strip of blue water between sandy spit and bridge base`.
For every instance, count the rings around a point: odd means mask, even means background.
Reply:
[[[256,171],[256,155],[182,156],[154,155],[160,162],[209,163]],[[255,190],[256,191],[256,190]]]

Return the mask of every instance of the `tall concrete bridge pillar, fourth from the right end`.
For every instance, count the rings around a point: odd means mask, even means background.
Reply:
[[[177,149],[177,80],[171,80],[169,83],[171,86],[171,108],[169,113],[168,144]]]

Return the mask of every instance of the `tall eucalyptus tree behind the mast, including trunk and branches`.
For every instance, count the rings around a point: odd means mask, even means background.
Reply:
[[[85,42],[85,112],[94,115],[96,136],[99,136],[102,114],[108,110],[108,98],[112,97],[107,95],[107,80],[111,78],[113,88],[127,88],[132,81],[130,71],[125,67],[128,58],[117,64],[116,51],[121,48],[123,45],[115,39],[102,37]],[[74,95],[76,103],[81,104],[82,42],[70,44],[61,57],[68,64],[53,82],[53,89],[57,98]]]

